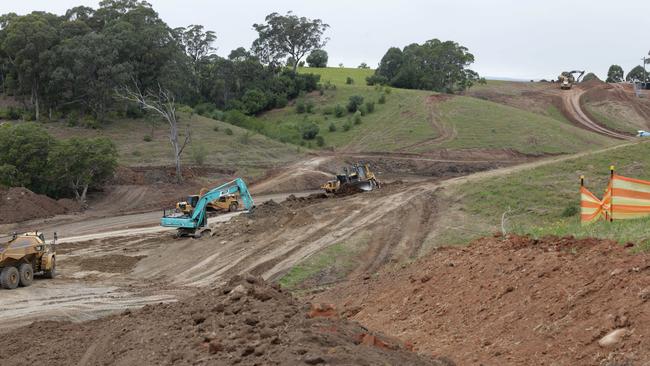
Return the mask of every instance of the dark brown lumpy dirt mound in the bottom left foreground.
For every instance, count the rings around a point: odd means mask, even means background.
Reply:
[[[0,339],[0,364],[453,365],[410,352],[331,310],[310,311],[248,275],[178,303],[15,329]]]

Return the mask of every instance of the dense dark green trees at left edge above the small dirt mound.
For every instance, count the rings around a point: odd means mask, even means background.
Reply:
[[[107,138],[54,140],[35,123],[0,126],[0,184],[85,201],[113,176],[117,151]]]

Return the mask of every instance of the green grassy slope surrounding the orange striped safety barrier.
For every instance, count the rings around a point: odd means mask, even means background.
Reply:
[[[646,243],[650,220],[629,220],[582,227],[579,223],[579,176],[601,197],[609,166],[619,174],[650,180],[650,143],[621,146],[570,160],[554,162],[497,178],[462,184],[448,192],[464,213],[460,226],[441,235],[451,243],[501,229],[506,214],[507,231],[534,235],[577,235]],[[457,221],[461,222],[461,221]],[[647,243],[646,243],[647,245]]]

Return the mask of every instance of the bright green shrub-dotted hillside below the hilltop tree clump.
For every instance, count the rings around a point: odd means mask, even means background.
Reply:
[[[610,139],[577,128],[560,112],[545,105],[545,113],[531,112],[467,96],[446,98],[429,91],[366,86],[372,70],[344,68],[304,68],[322,76],[333,87],[312,93],[298,103],[313,106],[312,113],[298,113],[295,104],[259,116],[271,136],[286,141],[301,141],[301,126],[315,123],[325,141],[324,148],[351,151],[427,152],[436,149],[513,149],[526,154],[572,153],[606,146]],[[346,78],[355,79],[352,85]],[[513,96],[525,94],[528,85],[543,89],[540,83],[490,82],[490,90]],[[522,87],[524,85],[525,87]],[[487,90],[488,86],[477,87]],[[481,89],[482,88],[482,89]],[[350,96],[360,95],[375,102],[375,111],[354,124],[352,115],[336,117],[338,105],[345,107]],[[384,95],[385,104],[379,104]],[[433,96],[433,97],[432,97]],[[345,125],[351,126],[349,131]],[[333,125],[335,131],[330,131]],[[315,141],[303,142],[317,148]]]

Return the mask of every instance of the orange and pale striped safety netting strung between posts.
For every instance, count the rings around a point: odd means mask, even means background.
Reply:
[[[649,216],[650,182],[612,174],[602,200],[581,186],[580,213],[583,224]]]

